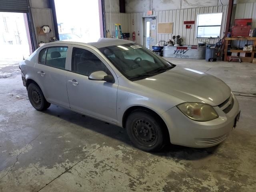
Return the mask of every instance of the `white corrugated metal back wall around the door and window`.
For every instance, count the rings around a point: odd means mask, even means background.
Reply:
[[[184,21],[197,21],[197,15],[203,13],[219,13],[223,12],[222,27],[220,37],[223,37],[227,18],[228,6],[211,6],[202,8],[188,8],[180,10],[166,10],[166,11],[153,11],[153,16],[156,16],[156,22],[173,22],[173,34],[158,34],[156,42],[160,40],[169,40],[173,35],[180,35],[184,42],[182,44],[196,45],[198,40],[209,41],[216,43],[218,39],[197,39],[196,38],[196,24],[192,25],[191,29],[186,29]],[[115,34],[115,23],[122,24],[122,32],[130,32],[130,40],[132,39],[132,32],[135,32],[135,41],[143,44],[143,17],[146,17],[146,12],[141,13],[112,13],[112,34]],[[132,25],[134,20],[134,25]],[[106,28],[110,30],[110,13],[106,13]],[[138,36],[138,33],[140,36]]]

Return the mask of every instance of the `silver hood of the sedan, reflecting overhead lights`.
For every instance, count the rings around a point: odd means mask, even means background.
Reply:
[[[222,80],[189,68],[174,67],[164,73],[135,81],[186,102],[217,106],[229,98],[231,90]]]

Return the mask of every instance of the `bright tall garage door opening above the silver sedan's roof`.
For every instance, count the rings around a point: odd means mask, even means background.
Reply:
[[[100,38],[98,0],[54,0],[60,40],[92,42]]]

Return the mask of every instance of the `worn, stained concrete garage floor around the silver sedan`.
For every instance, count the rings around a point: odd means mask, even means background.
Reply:
[[[217,76],[233,91],[256,93],[256,64],[169,60]],[[151,154],[134,148],[123,128],[55,105],[34,110],[20,74],[0,71],[9,73],[0,76],[1,192],[256,191],[255,95],[237,96],[240,121],[222,144],[170,144]]]

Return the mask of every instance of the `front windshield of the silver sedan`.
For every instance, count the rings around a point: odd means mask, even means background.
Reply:
[[[99,50],[132,81],[154,76],[175,67],[174,64],[135,43],[108,46]]]

